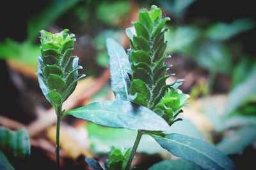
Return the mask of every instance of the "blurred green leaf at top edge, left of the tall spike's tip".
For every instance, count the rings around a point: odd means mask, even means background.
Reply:
[[[96,15],[105,24],[119,25],[130,11],[129,1],[103,2],[97,7]]]

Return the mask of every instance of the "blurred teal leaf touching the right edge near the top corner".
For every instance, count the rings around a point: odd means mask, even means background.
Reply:
[[[207,38],[211,38],[218,41],[230,39],[241,32],[248,31],[255,27],[255,22],[250,19],[234,20],[230,24],[220,22],[214,24],[205,32]]]

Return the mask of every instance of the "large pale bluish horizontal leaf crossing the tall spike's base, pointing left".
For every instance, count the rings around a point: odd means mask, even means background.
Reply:
[[[168,124],[153,111],[129,101],[103,101],[89,104],[64,114],[95,124],[131,130],[165,131]],[[148,122],[151,122],[148,124]]]

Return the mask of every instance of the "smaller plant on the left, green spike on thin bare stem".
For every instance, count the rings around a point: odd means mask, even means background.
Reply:
[[[78,66],[78,57],[72,56],[74,49],[74,34],[68,34],[68,29],[52,34],[41,32],[40,56],[38,59],[38,81],[46,99],[56,111],[56,161],[60,166],[60,119],[62,104],[72,94],[77,80],[84,74],[78,74],[83,67]]]

